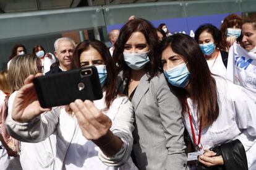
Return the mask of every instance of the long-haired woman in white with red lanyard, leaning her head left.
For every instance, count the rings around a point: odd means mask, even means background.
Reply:
[[[190,36],[177,33],[166,38],[160,52],[164,75],[182,103],[184,124],[202,166],[247,169],[248,165],[255,169],[256,104],[249,98],[252,93],[212,75]],[[216,147],[222,154],[210,151]]]

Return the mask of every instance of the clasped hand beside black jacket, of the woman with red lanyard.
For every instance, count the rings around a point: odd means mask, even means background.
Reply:
[[[216,153],[214,151],[206,150],[205,153],[198,157],[198,161],[208,167],[224,164],[222,156],[215,155]]]

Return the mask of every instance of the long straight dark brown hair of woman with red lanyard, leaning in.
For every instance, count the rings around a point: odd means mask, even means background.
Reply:
[[[197,104],[202,127],[208,127],[219,116],[218,95],[216,82],[211,76],[207,61],[197,42],[188,35],[177,33],[165,38],[160,44],[160,53],[168,46],[174,53],[179,54],[187,62],[190,72],[189,85],[193,94],[190,94],[193,103]],[[182,103],[182,113],[186,111],[186,100],[188,93],[184,88],[170,85]]]

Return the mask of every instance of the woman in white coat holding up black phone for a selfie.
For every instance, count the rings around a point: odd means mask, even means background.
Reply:
[[[74,51],[72,69],[91,65],[96,66],[101,80],[101,100],[41,108],[35,77],[30,75],[15,96],[7,128],[25,142],[40,142],[56,130],[54,169],[137,169],[130,159],[132,104],[116,93],[114,62],[108,48],[97,40],[83,41]]]

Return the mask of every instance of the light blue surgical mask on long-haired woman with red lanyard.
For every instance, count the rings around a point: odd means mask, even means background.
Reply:
[[[179,64],[171,69],[164,70],[164,76],[175,87],[186,87],[189,83],[189,70],[187,63]]]

